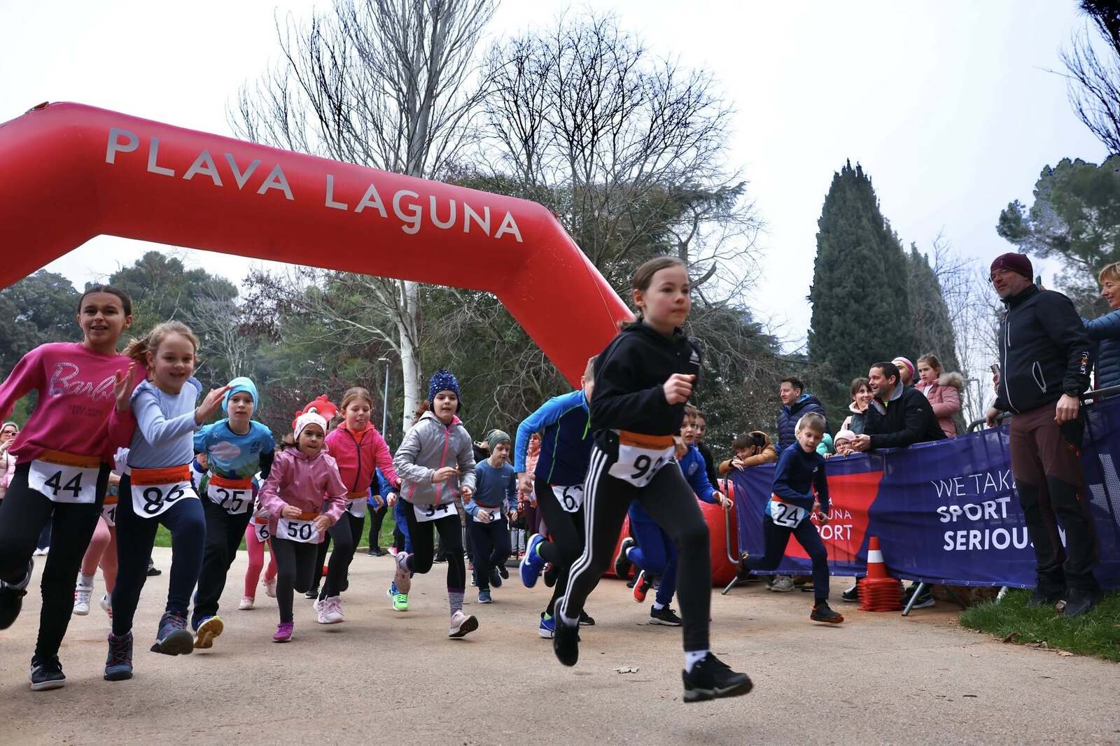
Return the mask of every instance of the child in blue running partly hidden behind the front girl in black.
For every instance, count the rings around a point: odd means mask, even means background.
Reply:
[[[694,445],[697,416],[697,408],[685,404],[681,439],[687,450],[678,458],[678,464],[697,497],[706,503],[729,507],[731,501],[708,481],[703,456]],[[625,578],[631,565],[638,568],[638,576],[634,580],[634,599],[638,603],[645,600],[652,584],[651,576],[659,576],[661,582],[653,606],[650,607],[650,624],[679,627],[681,618],[669,605],[676,593],[676,548],[669,534],[650,517],[637,501],[631,503],[627,515],[634,538],[627,537],[623,540],[618,557],[615,558],[615,574],[619,578]]]

